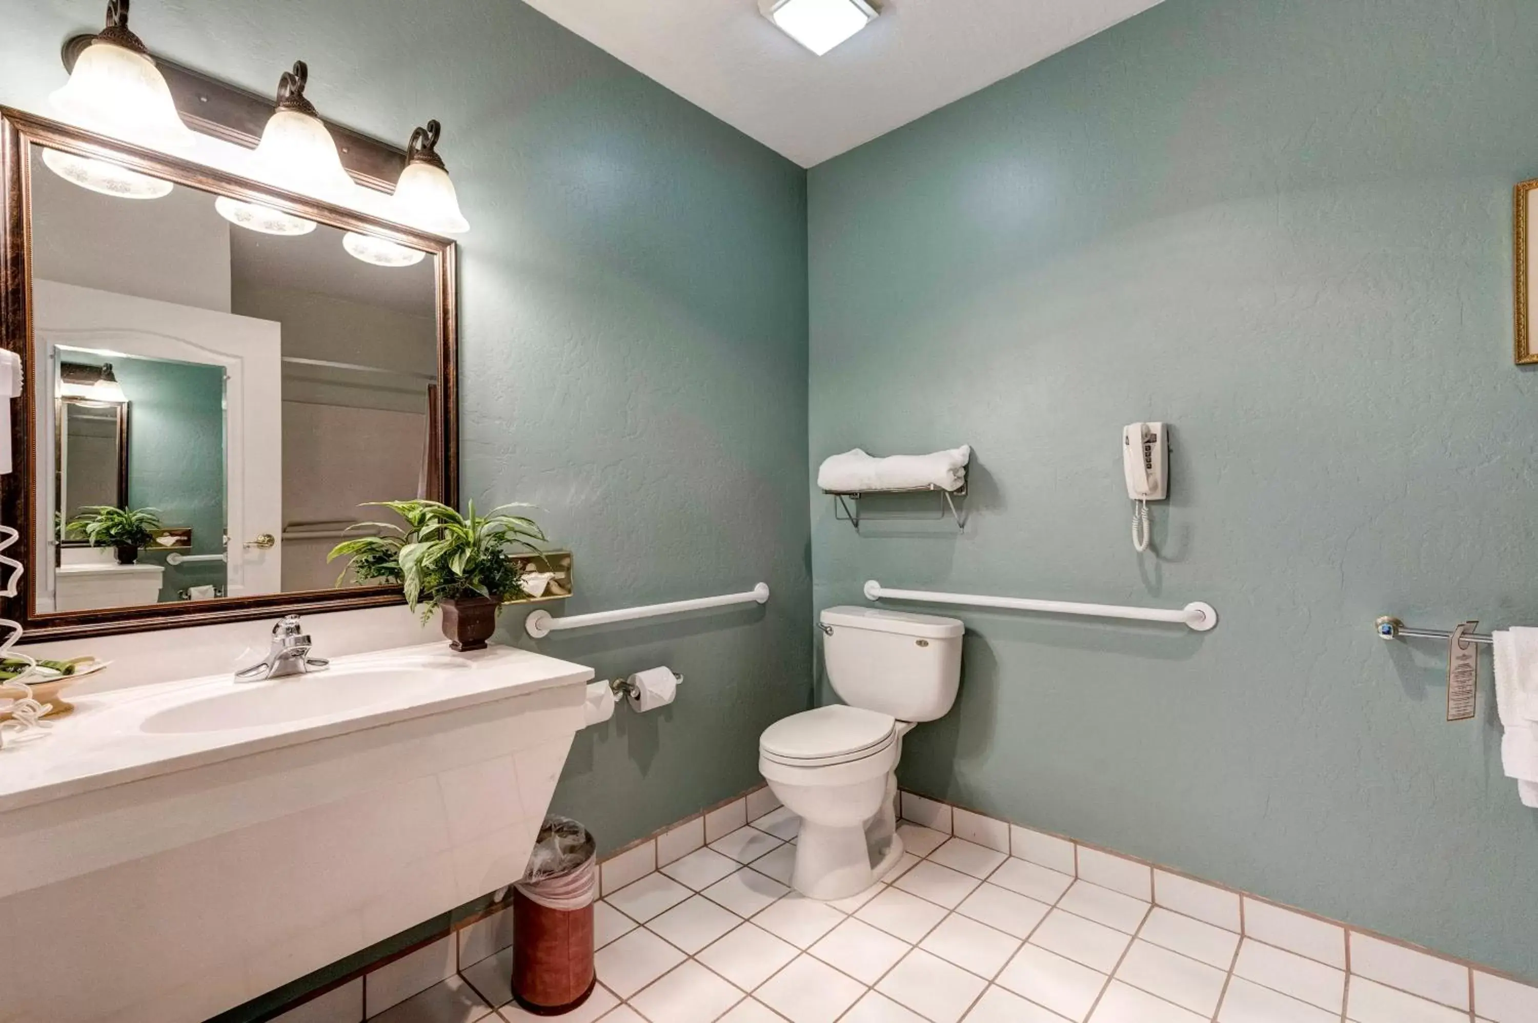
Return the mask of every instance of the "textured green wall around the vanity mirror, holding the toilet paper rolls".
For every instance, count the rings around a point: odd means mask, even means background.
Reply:
[[[0,0],[0,103],[48,111],[100,0]],[[757,735],[811,678],[806,177],[509,0],[165,0],[148,45],[308,95],[404,143],[437,117],[461,246],[463,492],[534,502],[577,552],[571,612],[774,588],[763,609],[541,643],[684,697],[578,737],[555,811],[614,848],[757,777]],[[317,637],[325,640],[325,637]],[[521,615],[504,641],[529,643]]]

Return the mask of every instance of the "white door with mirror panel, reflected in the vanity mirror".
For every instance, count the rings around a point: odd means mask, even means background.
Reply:
[[[40,377],[43,397],[80,386],[66,382],[65,366],[111,365],[131,403],[126,502],[105,503],[154,509],[161,526],[191,529],[189,546],[148,543],[131,566],[105,549],[78,549],[66,534],[49,558],[58,577],[38,566],[38,609],[48,594],[52,609],[78,611],[278,592],[280,551],[237,552],[225,540],[248,521],[260,532],[281,518],[277,325],[49,280],[34,282],[32,302],[38,360],[55,366]],[[40,422],[40,434],[49,426]],[[40,449],[57,442],[45,438]],[[40,503],[51,497],[38,492]],[[68,489],[58,500],[38,508],[40,523],[65,508],[78,514]]]

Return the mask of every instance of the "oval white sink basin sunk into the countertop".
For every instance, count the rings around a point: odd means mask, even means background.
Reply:
[[[152,734],[221,732],[331,717],[440,685],[443,672],[469,665],[451,658],[392,668],[317,671],[269,681],[235,683],[217,695],[151,714],[140,731]]]

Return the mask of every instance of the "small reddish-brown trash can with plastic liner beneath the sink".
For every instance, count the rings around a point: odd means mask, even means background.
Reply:
[[[535,1015],[571,1012],[592,994],[597,845],[566,817],[548,817],[512,894],[512,997]]]

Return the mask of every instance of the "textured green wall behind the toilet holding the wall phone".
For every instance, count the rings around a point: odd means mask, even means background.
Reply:
[[[1489,674],[1447,725],[1446,652],[1372,634],[1538,620],[1535,85],[1527,0],[1169,0],[811,172],[814,463],[978,460],[960,535],[814,495],[815,605],[874,577],[1221,614],[964,612],[907,786],[1538,978]],[[1144,557],[1135,420],[1175,443]]]

